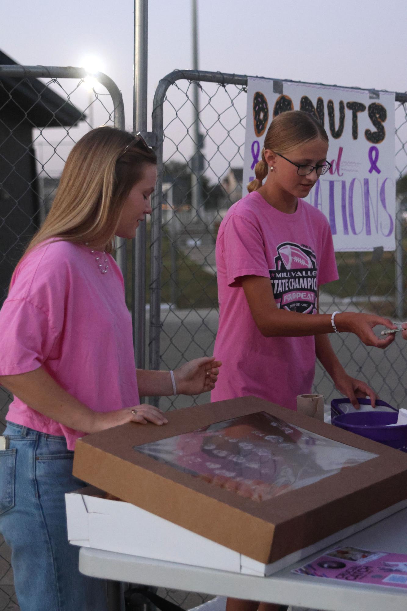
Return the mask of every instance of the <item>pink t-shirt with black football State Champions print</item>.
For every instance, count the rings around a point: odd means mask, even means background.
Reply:
[[[279,308],[316,313],[319,285],[338,278],[328,220],[301,199],[294,214],[285,214],[254,191],[223,219],[216,262],[220,314],[214,354],[223,365],[212,401],[254,395],[296,410],[297,395],[311,392],[314,380],[314,336],[264,337],[240,279],[270,278]]]

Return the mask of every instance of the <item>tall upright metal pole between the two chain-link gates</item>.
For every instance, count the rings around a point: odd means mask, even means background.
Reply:
[[[134,133],[147,131],[148,0],[134,1]],[[146,222],[133,241],[133,342],[135,366],[145,368],[146,331]]]

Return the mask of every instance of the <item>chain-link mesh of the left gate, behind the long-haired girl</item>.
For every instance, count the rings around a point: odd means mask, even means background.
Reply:
[[[51,207],[71,148],[100,125],[124,127],[121,93],[106,75],[0,65],[0,306],[16,263]],[[0,387],[0,434],[11,400]],[[0,535],[0,611],[16,609],[10,549]]]

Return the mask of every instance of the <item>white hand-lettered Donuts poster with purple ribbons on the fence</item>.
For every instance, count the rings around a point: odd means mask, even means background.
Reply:
[[[395,94],[249,78],[243,196],[270,123],[289,110],[314,114],[330,140],[332,167],[305,200],[328,218],[335,250],[394,251]]]

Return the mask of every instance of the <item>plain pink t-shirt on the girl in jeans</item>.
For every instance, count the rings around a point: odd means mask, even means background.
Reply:
[[[107,412],[140,400],[123,276],[110,255],[102,274],[96,256],[103,260],[86,246],[46,241],[23,259],[0,311],[0,375],[42,365],[88,408]],[[7,420],[65,436],[71,450],[84,434],[16,397]]]

